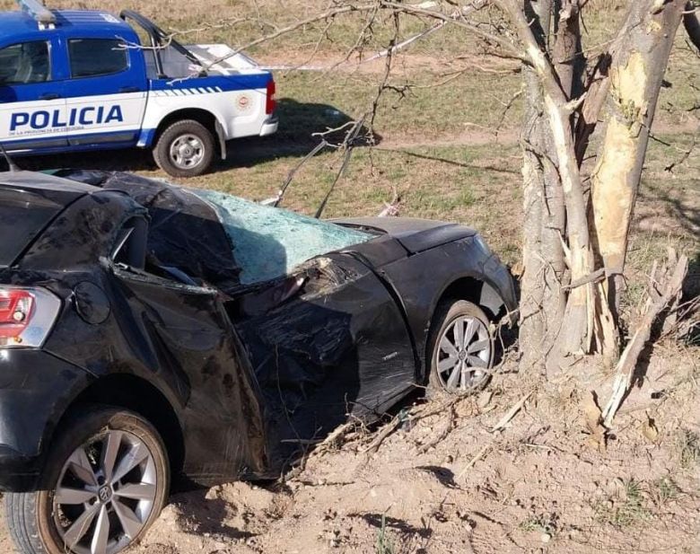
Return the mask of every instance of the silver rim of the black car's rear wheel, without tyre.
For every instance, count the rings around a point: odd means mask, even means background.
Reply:
[[[53,520],[66,551],[115,554],[153,513],[153,454],[136,435],[110,430],[68,458],[53,498]]]

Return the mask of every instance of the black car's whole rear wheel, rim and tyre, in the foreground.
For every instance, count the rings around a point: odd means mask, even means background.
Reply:
[[[5,498],[22,554],[116,554],[139,541],[170,488],[165,446],[136,413],[95,407],[61,423],[42,490]]]

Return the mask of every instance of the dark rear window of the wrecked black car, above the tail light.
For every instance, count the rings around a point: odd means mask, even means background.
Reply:
[[[0,268],[11,266],[62,208],[30,192],[0,188]]]

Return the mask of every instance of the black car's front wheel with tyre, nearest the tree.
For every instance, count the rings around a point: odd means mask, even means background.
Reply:
[[[494,362],[486,313],[466,300],[452,300],[438,306],[433,321],[428,389],[452,394],[483,389]]]

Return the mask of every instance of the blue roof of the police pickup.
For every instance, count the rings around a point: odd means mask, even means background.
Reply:
[[[51,10],[57,18],[57,31],[84,29],[103,31],[106,35],[114,35],[118,31],[131,31],[127,22],[109,12],[98,10]],[[0,40],[11,39],[15,36],[21,40],[40,39],[55,31],[39,29],[39,23],[29,13],[15,10],[0,12]]]

